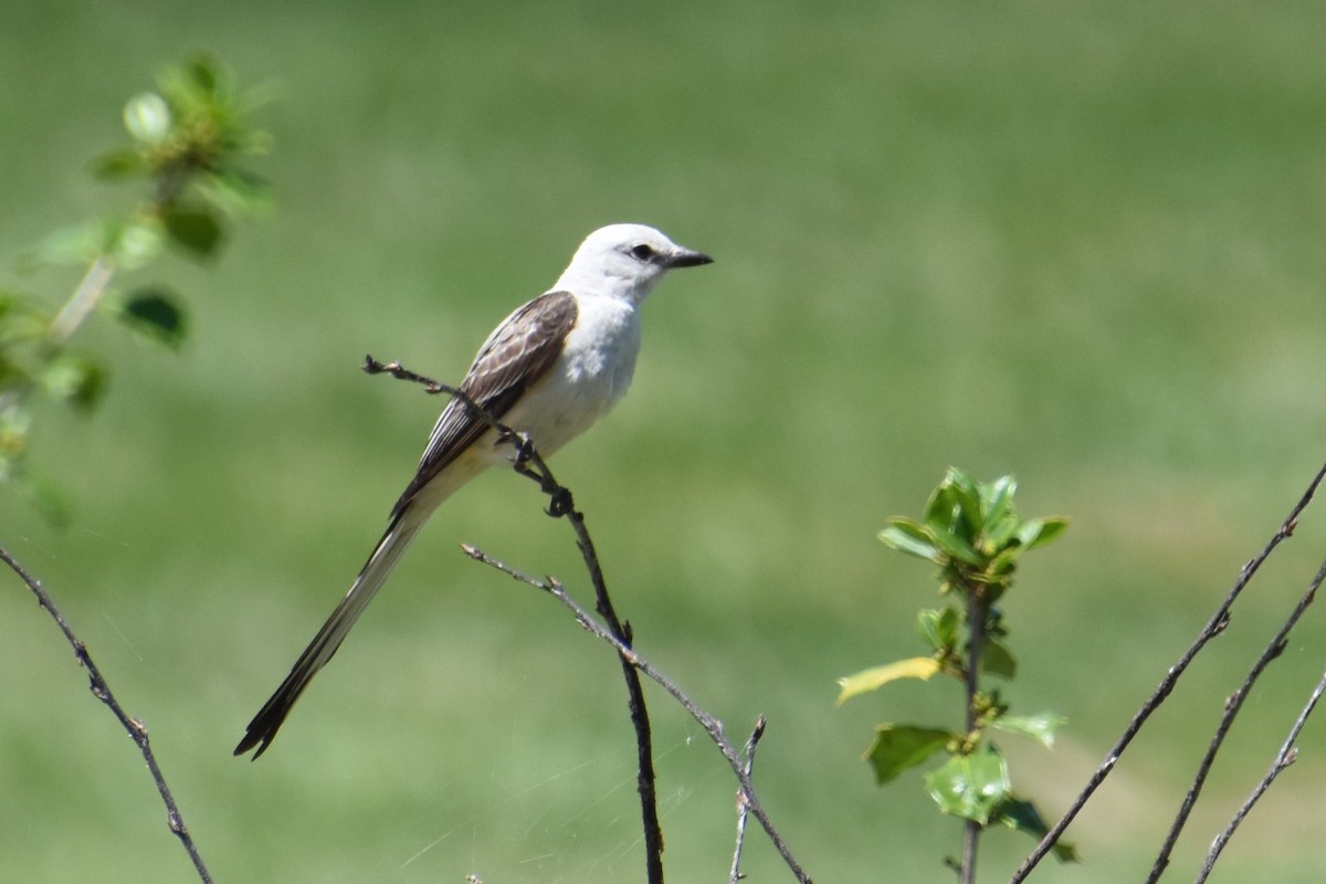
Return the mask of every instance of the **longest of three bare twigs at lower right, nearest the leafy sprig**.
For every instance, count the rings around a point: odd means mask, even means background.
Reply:
[[[1317,476],[1307,485],[1307,490],[1303,492],[1302,498],[1299,498],[1293,512],[1289,513],[1289,518],[1284,521],[1261,553],[1244,565],[1238,574],[1238,579],[1235,582],[1233,588],[1229,590],[1224,602],[1221,602],[1215,614],[1211,615],[1211,619],[1197,634],[1197,637],[1192,641],[1192,644],[1188,645],[1188,649],[1183,652],[1183,656],[1179,657],[1177,663],[1170,667],[1164,679],[1160,680],[1160,685],[1147,698],[1147,701],[1142,704],[1142,709],[1139,709],[1132,717],[1132,721],[1130,721],[1128,726],[1124,728],[1123,734],[1114,744],[1114,746],[1110,747],[1105,761],[1102,761],[1095,773],[1091,774],[1086,787],[1083,787],[1083,790],[1073,801],[1073,804],[1063,814],[1059,822],[1057,822],[1050,831],[1046,832],[1045,838],[1041,839],[1041,843],[1036,846],[1036,850],[1033,850],[1032,854],[1022,860],[1022,864],[1013,873],[1013,877],[1009,879],[1009,884],[1018,884],[1020,881],[1026,880],[1026,876],[1032,873],[1032,869],[1036,868],[1042,859],[1045,859],[1045,855],[1050,852],[1055,842],[1058,842],[1058,839],[1063,835],[1063,831],[1077,818],[1078,812],[1081,812],[1082,807],[1086,806],[1091,795],[1095,794],[1095,790],[1105,782],[1105,778],[1110,775],[1110,771],[1114,770],[1114,766],[1119,762],[1119,757],[1123,754],[1123,750],[1128,747],[1132,738],[1138,736],[1139,730],[1142,730],[1142,725],[1146,724],[1147,718],[1151,717],[1151,713],[1154,713],[1174,691],[1175,684],[1188,668],[1188,664],[1192,663],[1193,657],[1197,656],[1211,639],[1220,635],[1224,628],[1229,626],[1229,608],[1242,592],[1244,587],[1248,586],[1248,582],[1252,580],[1253,575],[1256,575],[1258,569],[1261,569],[1262,562],[1270,557],[1276,547],[1280,546],[1281,541],[1293,535],[1294,527],[1298,525],[1299,514],[1307,508],[1307,504],[1311,502],[1313,494],[1317,493],[1317,488],[1322,484],[1323,478],[1326,478],[1326,465],[1317,470]]]

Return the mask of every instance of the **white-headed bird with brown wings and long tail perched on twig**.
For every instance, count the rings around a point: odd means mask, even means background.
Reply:
[[[711,264],[643,224],[590,233],[544,294],[517,307],[488,335],[460,391],[493,419],[524,433],[549,457],[589,429],[626,394],[640,349],[640,305],[679,268]],[[350,590],[290,673],[249,722],[236,755],[272,745],[300,694],[341,647],[391,569],[443,501],[503,463],[512,447],[459,398],[443,408],[414,478],[391,509],[387,530]]]

